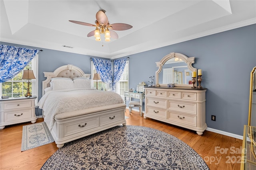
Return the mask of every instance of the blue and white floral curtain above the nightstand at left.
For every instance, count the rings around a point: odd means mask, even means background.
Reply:
[[[0,45],[0,83],[16,76],[36,56],[38,50]]]

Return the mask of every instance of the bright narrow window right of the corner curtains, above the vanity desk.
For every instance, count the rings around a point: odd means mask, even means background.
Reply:
[[[129,61],[126,61],[124,72],[119,80],[119,82],[116,83],[116,93],[120,94],[122,98],[124,99],[124,91],[128,91],[128,85],[129,85]]]

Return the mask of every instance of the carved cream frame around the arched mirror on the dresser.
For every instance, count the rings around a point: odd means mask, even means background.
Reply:
[[[196,75],[197,75],[197,69],[192,66],[192,64],[195,63],[195,57],[187,57],[184,54],[172,52],[172,53],[164,56],[164,58],[162,58],[161,61],[156,62],[156,66],[158,66],[158,70],[156,71],[156,84],[159,84],[158,74],[162,71],[162,66],[164,65],[164,63],[166,63],[166,61],[168,61],[169,59],[172,59],[172,58],[182,59],[188,65],[188,69],[191,72],[195,71]],[[192,80],[192,78],[191,78],[191,80]],[[197,84],[197,80],[196,80],[196,84]],[[167,87],[167,84],[159,84],[159,86]],[[189,88],[192,86],[193,86],[192,84],[175,84],[175,87],[182,87],[182,88]]]

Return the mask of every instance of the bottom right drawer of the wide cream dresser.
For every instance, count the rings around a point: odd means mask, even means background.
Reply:
[[[168,119],[184,125],[192,125],[196,127],[196,115],[186,115],[168,111]]]

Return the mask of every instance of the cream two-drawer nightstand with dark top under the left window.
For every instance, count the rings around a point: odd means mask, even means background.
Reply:
[[[0,129],[6,125],[31,121],[36,122],[35,100],[30,98],[8,98],[0,100]]]

